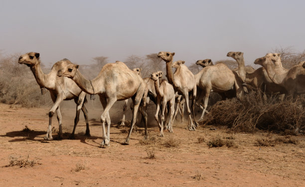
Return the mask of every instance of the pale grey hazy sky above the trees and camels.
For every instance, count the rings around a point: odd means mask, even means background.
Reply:
[[[304,8],[304,0],[0,0],[0,49],[52,64],[170,51],[190,65],[242,51],[252,64],[276,47],[305,49]]]

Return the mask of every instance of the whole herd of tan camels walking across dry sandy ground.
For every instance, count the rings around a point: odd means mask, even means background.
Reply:
[[[242,52],[228,52],[227,56],[232,57],[238,63],[238,70],[231,70],[223,63],[213,64],[211,59],[198,60],[197,65],[203,68],[197,74],[193,74],[184,61],[173,62],[174,52],[159,52],[157,56],[166,63],[167,81],[161,79],[163,72],[152,73],[151,77],[142,78],[141,68],[131,70],[123,62],[116,61],[103,66],[98,76],[87,80],[78,70],[79,65],[71,63],[68,59],[56,62],[51,72],[44,74],[40,67],[39,53],[29,52],[19,57],[18,63],[30,67],[34,77],[41,88],[50,91],[53,106],[49,111],[49,126],[44,137],[45,140],[52,140],[52,117],[57,113],[59,124],[58,138],[62,139],[61,113],[59,104],[63,100],[74,99],[76,103],[76,117],[74,120],[73,132],[69,138],[74,138],[75,128],[79,121],[80,110],[83,111],[86,120],[86,136],[90,136],[88,111],[85,107],[86,93],[99,95],[104,111],[101,115],[103,127],[103,141],[101,147],[110,145],[110,115],[109,110],[116,101],[125,100],[123,108],[124,115],[122,124],[125,121],[125,110],[128,99],[133,101],[133,119],[125,144],[129,144],[130,135],[137,121],[138,111],[143,116],[145,124],[145,136],[148,138],[147,130],[147,106],[150,100],[156,105],[155,120],[160,129],[160,136],[164,136],[163,129],[173,133],[172,124],[179,112],[183,120],[184,105],[188,115],[187,129],[195,131],[198,122],[195,119],[195,104],[200,106],[202,115],[200,120],[207,113],[208,98],[210,92],[219,93],[222,98],[228,95],[243,99],[247,92],[247,85],[261,89],[266,94],[281,94],[281,99],[295,97],[305,93],[305,61],[290,69],[282,66],[279,53],[268,53],[264,57],[255,60],[255,64],[262,67],[254,70],[246,68]],[[175,72],[172,72],[175,68]],[[189,106],[191,100],[191,109]],[[202,102],[202,103],[201,103]],[[176,103],[176,109],[174,109]],[[192,111],[192,112],[191,112]],[[167,118],[169,118],[167,123]],[[107,132],[105,128],[107,124]],[[164,127],[163,127],[164,126]]]

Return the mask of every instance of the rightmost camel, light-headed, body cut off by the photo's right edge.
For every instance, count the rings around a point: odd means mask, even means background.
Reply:
[[[269,78],[288,92],[288,96],[295,97],[305,93],[305,61],[293,66],[288,71],[277,70],[275,63],[281,59],[278,53],[267,53],[264,57],[255,60],[255,64],[262,65]]]

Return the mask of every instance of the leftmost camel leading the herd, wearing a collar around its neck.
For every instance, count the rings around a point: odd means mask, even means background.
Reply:
[[[74,139],[75,128],[79,121],[79,114],[80,110],[83,111],[84,117],[86,120],[86,136],[90,136],[89,130],[89,122],[88,122],[88,111],[84,105],[87,102],[86,100],[86,93],[83,92],[71,79],[66,77],[58,77],[57,71],[59,68],[65,64],[72,64],[68,59],[63,59],[56,62],[51,72],[48,74],[44,74],[40,67],[40,60],[39,60],[39,53],[36,52],[28,52],[19,57],[18,63],[25,64],[30,67],[31,71],[34,74],[34,77],[41,88],[41,93],[43,94],[44,89],[48,89],[50,91],[50,95],[53,101],[53,106],[49,111],[49,126],[44,137],[45,140],[53,140],[52,137],[52,117],[56,110],[57,113],[57,120],[59,125],[59,134],[58,139],[62,139],[62,124],[61,124],[61,112],[59,109],[59,104],[63,100],[71,100],[74,99],[76,103],[76,116],[74,120],[74,128],[70,135],[70,139]]]

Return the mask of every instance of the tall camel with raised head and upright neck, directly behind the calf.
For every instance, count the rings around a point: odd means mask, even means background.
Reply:
[[[186,102],[186,109],[188,114],[188,130],[195,131],[195,125],[197,126],[198,123],[195,119],[195,97],[197,87],[195,84],[195,77],[194,74],[183,64],[184,61],[176,61],[172,63],[174,52],[164,52],[161,51],[158,53],[158,57],[165,61],[166,63],[166,78],[168,83],[173,85],[173,88],[179,95],[183,95],[185,102]],[[175,73],[172,73],[172,68],[176,68]],[[191,111],[188,105],[188,92],[191,92],[192,96],[192,113],[193,113],[193,120],[195,125],[193,124],[191,118]]]

